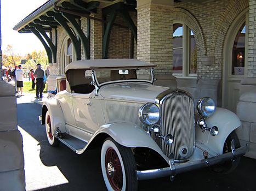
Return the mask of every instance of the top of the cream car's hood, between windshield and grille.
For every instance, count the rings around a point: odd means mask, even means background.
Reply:
[[[105,85],[99,94],[104,98],[131,100],[135,102],[154,102],[156,97],[169,89],[168,87],[153,86],[149,83],[127,82]]]

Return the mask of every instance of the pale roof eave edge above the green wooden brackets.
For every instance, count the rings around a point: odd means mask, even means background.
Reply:
[[[32,13],[31,15],[25,17],[24,20],[20,21],[17,25],[13,27],[15,31],[19,31],[21,28],[28,25],[31,21],[37,19],[39,16],[43,15],[44,13],[47,13],[47,11],[54,8],[54,3],[62,3],[65,0],[52,0],[43,5],[43,7],[39,8],[35,11],[35,13]]]

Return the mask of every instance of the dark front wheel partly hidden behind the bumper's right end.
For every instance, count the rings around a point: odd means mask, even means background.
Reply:
[[[235,141],[235,148],[240,147],[239,139],[236,135],[236,132],[234,131],[234,132],[230,133],[229,136],[227,136],[227,139],[226,139],[226,141],[224,143],[224,147],[223,147],[223,153],[231,152],[231,141],[233,139]],[[236,169],[239,162],[240,162],[240,157],[235,157],[234,159],[227,160],[224,163],[214,165],[211,167],[211,169],[214,172],[217,172],[218,174],[229,174],[230,172],[232,172],[233,170]]]

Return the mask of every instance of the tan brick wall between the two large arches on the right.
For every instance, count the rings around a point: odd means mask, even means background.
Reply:
[[[183,13],[185,20],[190,18],[191,14],[201,27],[201,35],[204,41],[196,41],[197,46],[206,46],[205,50],[201,49],[201,56],[215,56],[215,63],[211,66],[204,65],[198,56],[197,73],[199,79],[222,79],[223,46],[227,31],[236,17],[248,6],[248,0],[175,4],[175,11],[179,10],[179,8],[185,10]],[[191,27],[194,33],[195,29],[193,30],[192,27],[198,27],[195,26],[196,22],[193,22],[192,25],[190,25],[191,22],[186,22],[187,26]],[[202,43],[205,43],[205,45],[201,45]]]

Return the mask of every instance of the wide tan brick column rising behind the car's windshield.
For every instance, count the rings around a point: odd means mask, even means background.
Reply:
[[[138,0],[137,10],[137,58],[157,64],[157,85],[176,86],[175,77],[172,76],[173,2]]]

